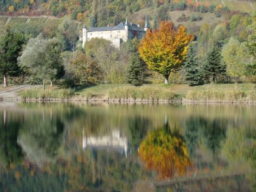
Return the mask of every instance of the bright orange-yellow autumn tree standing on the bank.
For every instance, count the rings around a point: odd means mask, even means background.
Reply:
[[[163,74],[165,83],[171,72],[181,67],[188,52],[188,45],[193,40],[184,26],[175,28],[173,22],[161,21],[159,29],[150,29],[138,47],[140,56],[150,70]]]

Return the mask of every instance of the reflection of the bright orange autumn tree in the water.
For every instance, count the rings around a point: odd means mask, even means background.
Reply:
[[[157,171],[159,179],[182,175],[191,165],[184,139],[168,126],[148,134],[140,144],[139,156],[147,169]]]

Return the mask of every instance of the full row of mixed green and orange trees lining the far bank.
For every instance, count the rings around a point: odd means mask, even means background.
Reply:
[[[203,24],[198,33],[171,21],[159,22],[143,40],[116,49],[94,38],[84,49],[63,49],[58,36],[29,38],[6,29],[0,39],[0,73],[6,86],[60,81],[65,87],[97,83],[204,83],[256,81],[256,14],[237,14],[217,26]],[[64,24],[63,24],[64,26]]]

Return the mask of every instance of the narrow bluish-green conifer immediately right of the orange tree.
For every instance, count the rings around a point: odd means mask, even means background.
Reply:
[[[189,85],[193,86],[202,83],[200,70],[198,67],[198,60],[196,57],[196,50],[193,45],[189,46],[188,55],[184,62],[185,69],[185,79],[188,81]]]

